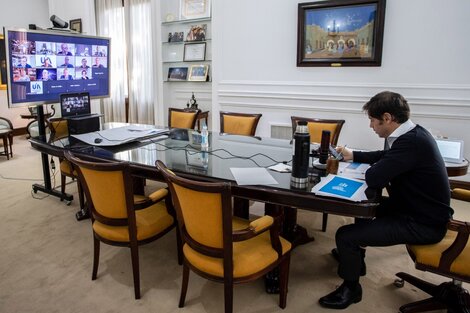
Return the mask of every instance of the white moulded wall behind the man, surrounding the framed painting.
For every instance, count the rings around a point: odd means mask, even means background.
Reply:
[[[387,1],[382,66],[342,68],[296,66],[298,3],[213,1],[214,128],[218,110],[263,113],[261,136],[291,115],[342,118],[340,144],[380,148],[361,108],[393,90],[413,121],[464,138],[470,157],[470,1]]]

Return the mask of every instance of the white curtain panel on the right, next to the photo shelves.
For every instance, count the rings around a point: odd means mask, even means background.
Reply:
[[[125,0],[128,22],[129,122],[154,124],[152,3]]]

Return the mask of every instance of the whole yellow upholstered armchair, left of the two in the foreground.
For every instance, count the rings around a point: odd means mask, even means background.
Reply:
[[[174,214],[171,214],[173,210],[166,205],[171,201],[153,201],[162,199],[162,195],[167,195],[166,191],[157,191],[150,195],[148,201],[135,199],[129,163],[88,162],[70,151],[65,152],[65,157],[78,173],[91,213],[94,242],[92,280],[98,273],[100,242],[128,247],[131,250],[135,298],[140,299],[138,246],[162,237],[176,225]],[[138,206],[136,200],[140,202]]]

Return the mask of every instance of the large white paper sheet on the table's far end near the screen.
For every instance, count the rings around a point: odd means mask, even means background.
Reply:
[[[143,125],[129,125],[71,136],[93,146],[117,146],[152,136],[162,135],[167,132],[168,129],[149,128]]]

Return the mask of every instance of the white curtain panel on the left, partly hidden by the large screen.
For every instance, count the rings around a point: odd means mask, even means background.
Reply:
[[[126,31],[121,0],[96,0],[97,33],[111,38],[110,98],[103,99],[106,122],[125,122],[127,95]]]

